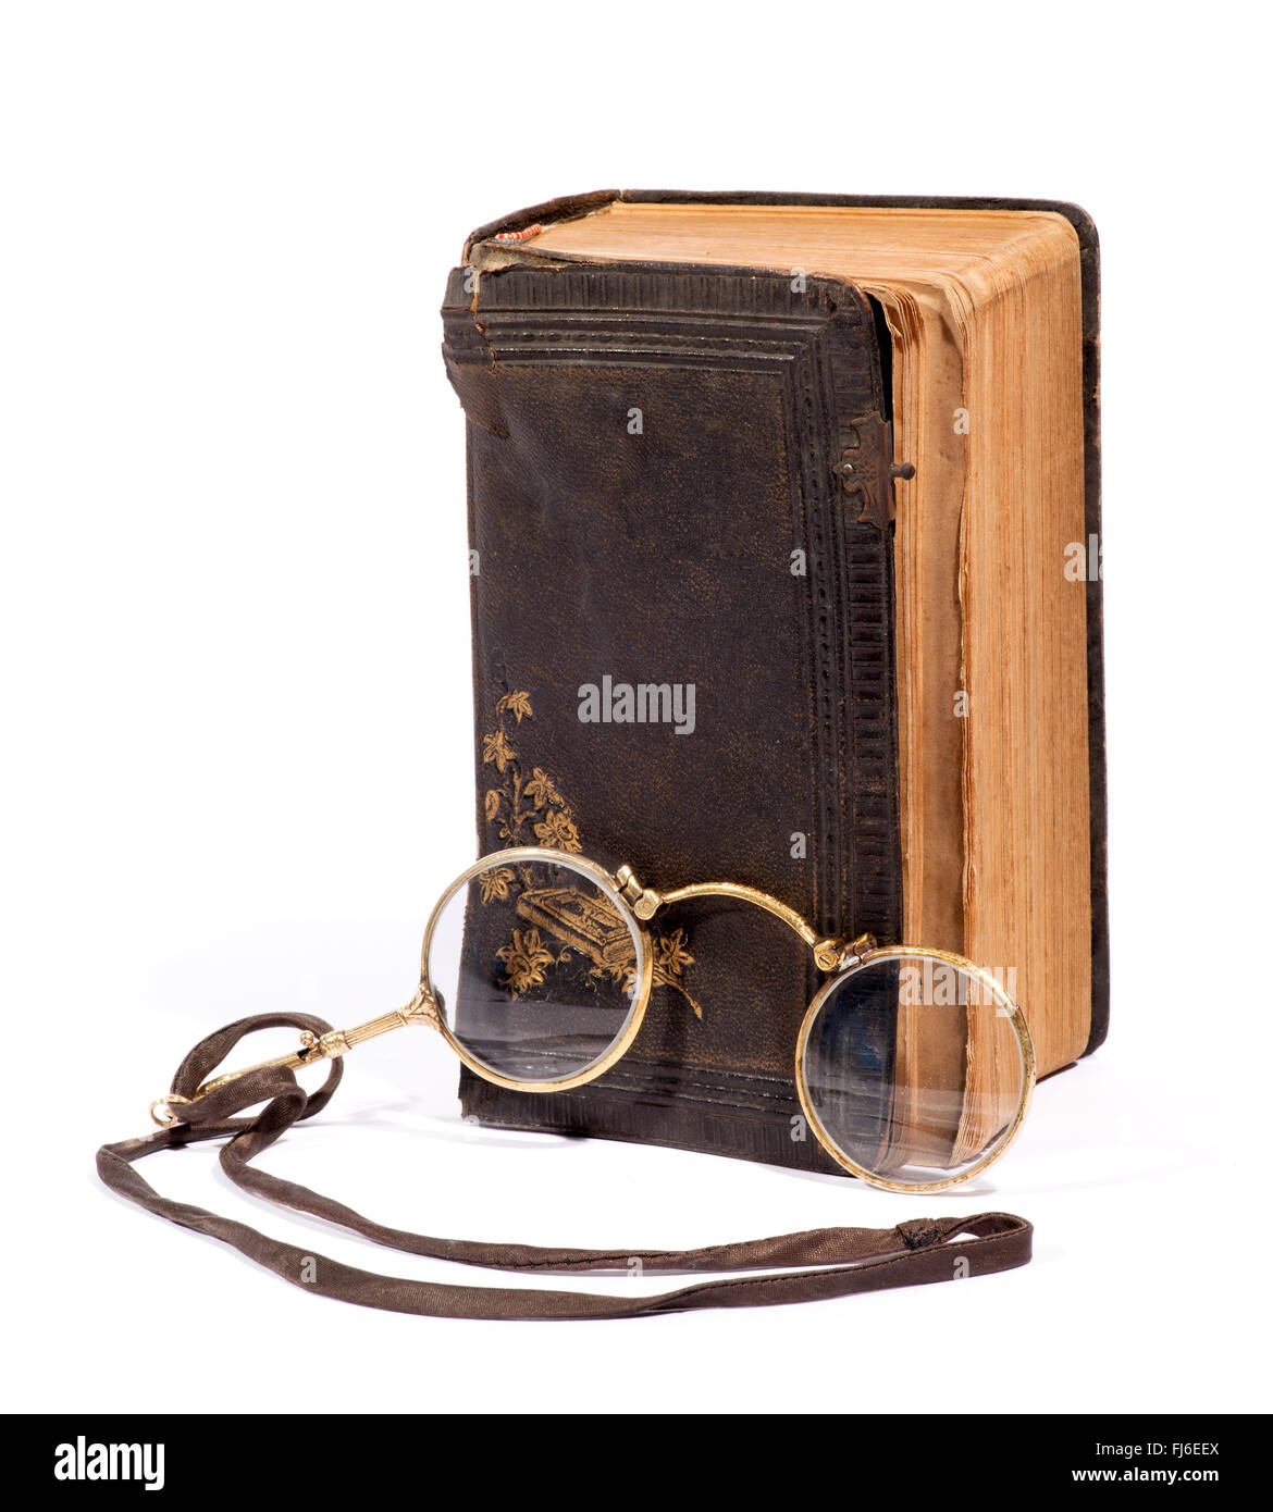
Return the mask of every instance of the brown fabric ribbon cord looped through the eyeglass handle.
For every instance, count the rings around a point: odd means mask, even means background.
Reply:
[[[256,1030],[295,1027],[325,1034],[331,1025],[302,1013],[268,1013],[239,1019],[201,1040],[181,1061],[172,1092],[194,1098],[195,1089],[233,1046]],[[448,1318],[629,1318],[697,1308],[776,1306],[821,1302],[857,1291],[921,1287],[934,1281],[984,1276],[1030,1261],[1033,1229],[1011,1213],[978,1213],[963,1219],[913,1219],[887,1229],[822,1228],[774,1238],[711,1244],[705,1249],[544,1249],[476,1240],[431,1238],[386,1228],[298,1182],[283,1181],[249,1163],[301,1119],[313,1117],[331,1099],[343,1063],[331,1061],[322,1089],[305,1093],[295,1075],[268,1066],[228,1081],[183,1107],[187,1119],[142,1139],[103,1145],[97,1152],[101,1179],[119,1196],[171,1223],[209,1234],[277,1276],[322,1297],[420,1317]],[[252,1117],[234,1117],[263,1102]],[[378,1244],[408,1255],[428,1255],[466,1266],[520,1272],[629,1272],[633,1259],[652,1272],[753,1272],[738,1281],[705,1281],[653,1297],[612,1297],[587,1291],[540,1291],[526,1287],[458,1287],[444,1282],[383,1276],[345,1266],[310,1249],[269,1238],[234,1219],[160,1196],[135,1169],[160,1149],[225,1140],[221,1167],[254,1196],[298,1213],[310,1213],[352,1229]],[[809,1269],[816,1267],[816,1269]]]

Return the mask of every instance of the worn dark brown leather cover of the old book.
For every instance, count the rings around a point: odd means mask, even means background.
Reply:
[[[842,470],[853,455],[859,476],[865,463],[887,487],[875,311],[830,278],[531,265],[516,243],[475,277],[478,242],[612,198],[481,228],[448,284],[444,357],[469,423],[481,851],[578,845],[652,888],[726,878],[776,894],[824,934],[900,939],[894,543],[880,497],[850,491]],[[1043,207],[1083,222],[1098,531],[1095,233],[1081,212]],[[1108,977],[1099,582],[1089,591],[1090,1049]],[[581,718],[581,689],[620,712],[624,685],[680,689],[680,717]],[[540,801],[506,801],[528,785]],[[715,903],[685,904],[658,931],[667,984],[618,1066],[550,1096],[466,1070],[466,1116],[839,1172],[798,1119],[794,1049],[819,980],[807,948],[767,915]]]

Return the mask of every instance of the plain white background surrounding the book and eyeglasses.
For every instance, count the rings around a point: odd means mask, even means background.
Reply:
[[[1267,38],[1244,15],[5,6],[11,1408],[1268,1408]],[[473,853],[437,307],[472,227],[599,187],[1095,216],[1113,1033],[952,1196],[470,1129],[414,1031],[360,1049],[266,1163],[407,1228],[550,1244],[1001,1207],[1037,1226],[1025,1270],[653,1321],[429,1321],[307,1297],[92,1175],[218,1024],[351,1024],[410,995],[428,906]],[[505,1279],[252,1204],[209,1149],[145,1173],[354,1264]]]

